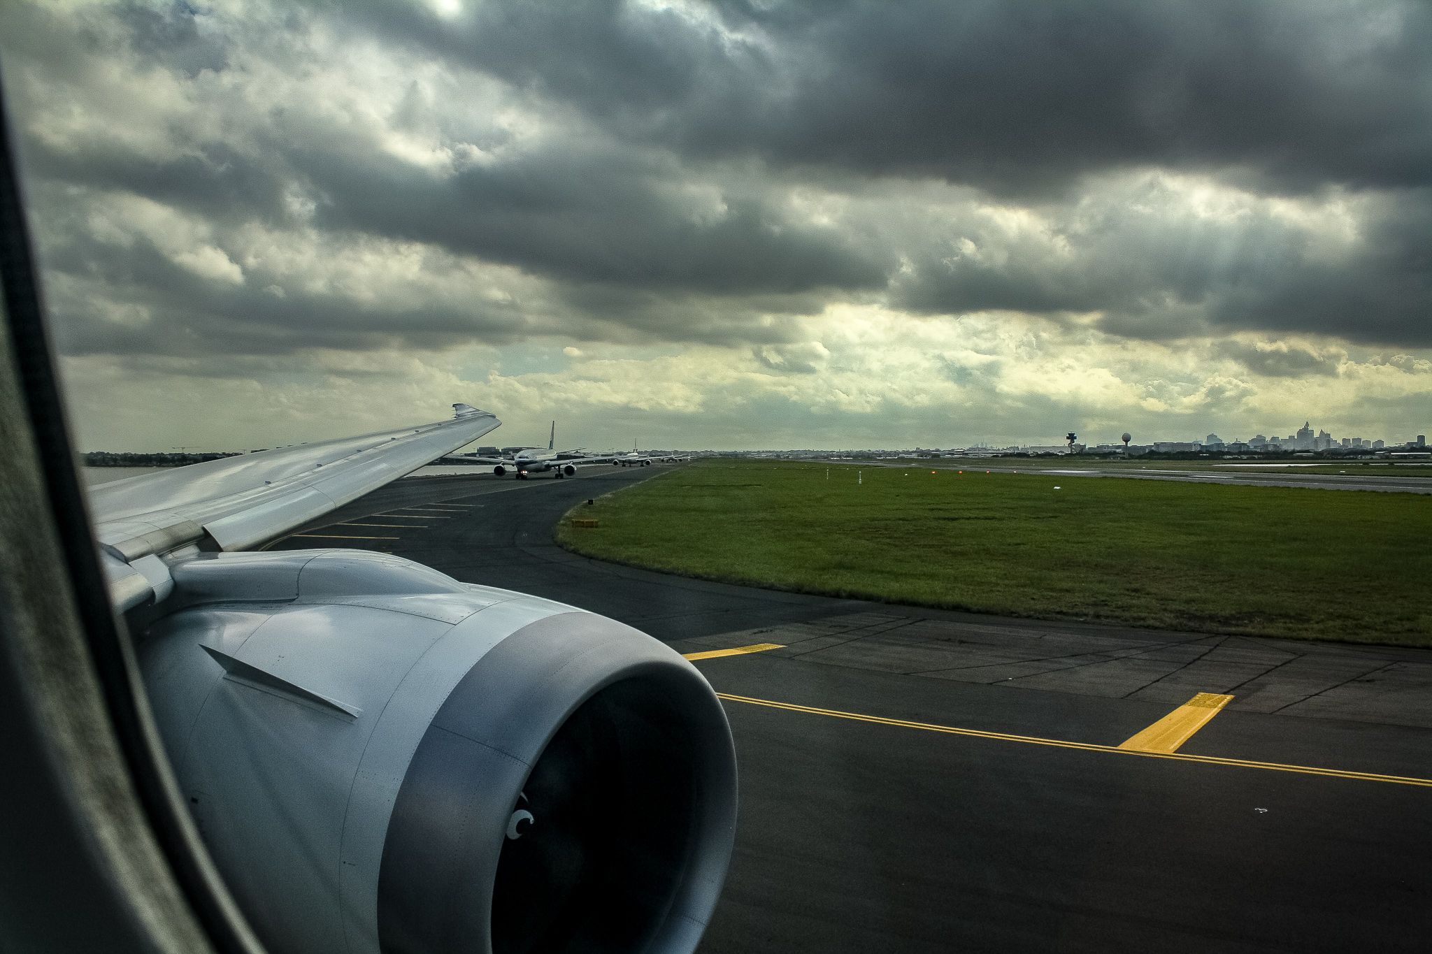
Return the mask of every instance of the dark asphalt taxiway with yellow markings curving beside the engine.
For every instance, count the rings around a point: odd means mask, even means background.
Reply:
[[[663,469],[401,481],[276,546],[384,549],[686,654],[779,646],[696,662],[742,785],[703,951],[1425,948],[1432,652],[799,596],[551,544]],[[1203,697],[1232,701],[1187,721]],[[1121,748],[1179,712],[1181,745]]]

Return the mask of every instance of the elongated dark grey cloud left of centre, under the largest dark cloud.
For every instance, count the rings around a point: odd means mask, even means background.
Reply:
[[[885,269],[835,230],[790,222],[753,195],[683,207],[680,170],[561,143],[434,176],[377,154],[312,146],[289,160],[324,197],[318,223],[441,245],[576,282],[717,295],[881,287]]]

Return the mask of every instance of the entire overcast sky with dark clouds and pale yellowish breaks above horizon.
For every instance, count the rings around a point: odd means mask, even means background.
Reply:
[[[10,1],[0,57],[84,449],[1432,425],[1422,0]]]

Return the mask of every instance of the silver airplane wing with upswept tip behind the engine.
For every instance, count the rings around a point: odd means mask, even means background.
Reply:
[[[453,409],[451,419],[435,423],[222,458],[90,488],[116,608],[163,598],[169,572],[160,554],[185,545],[233,551],[263,544],[501,423],[468,405]]]

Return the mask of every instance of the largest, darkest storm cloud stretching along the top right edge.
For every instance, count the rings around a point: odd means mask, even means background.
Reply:
[[[367,9],[372,27],[692,156],[942,176],[1239,169],[1282,189],[1425,183],[1432,7],[806,0],[720,21],[617,0]]]

